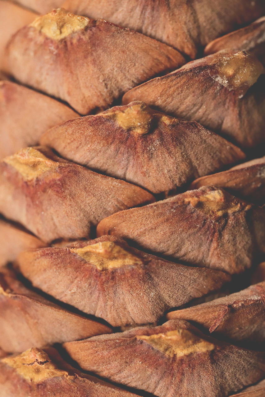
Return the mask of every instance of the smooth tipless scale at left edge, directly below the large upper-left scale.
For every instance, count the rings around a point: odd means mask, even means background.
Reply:
[[[0,158],[39,143],[48,128],[78,117],[68,106],[10,81],[0,82]]]

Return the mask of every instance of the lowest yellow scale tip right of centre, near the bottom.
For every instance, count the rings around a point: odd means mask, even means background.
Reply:
[[[136,336],[136,339],[147,342],[155,349],[170,357],[187,356],[192,353],[207,352],[214,349],[214,345],[194,335],[191,331],[177,329],[156,335]]]

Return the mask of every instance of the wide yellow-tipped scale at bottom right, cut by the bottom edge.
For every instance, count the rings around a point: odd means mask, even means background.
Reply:
[[[265,353],[217,341],[188,322],[65,343],[78,364],[159,397],[225,397],[265,375]]]

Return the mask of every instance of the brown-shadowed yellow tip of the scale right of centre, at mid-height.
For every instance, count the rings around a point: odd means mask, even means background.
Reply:
[[[200,197],[185,198],[184,202],[185,204],[191,204],[205,214],[214,212],[217,216],[251,208],[251,204],[243,204],[233,196],[226,196],[222,190],[214,190]]]

